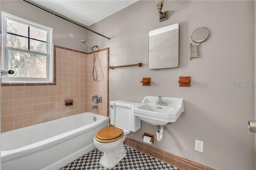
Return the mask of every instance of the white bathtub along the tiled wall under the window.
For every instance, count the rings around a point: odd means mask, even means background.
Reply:
[[[96,121],[94,121],[96,117]],[[86,112],[1,134],[2,170],[56,170],[95,149],[108,118]]]

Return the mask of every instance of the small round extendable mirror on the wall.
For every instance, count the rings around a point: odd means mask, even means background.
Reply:
[[[209,35],[210,35],[210,32],[209,32],[209,30],[207,28],[200,27],[200,28],[195,29],[192,32],[191,39],[195,43],[202,43],[206,39],[208,39]]]

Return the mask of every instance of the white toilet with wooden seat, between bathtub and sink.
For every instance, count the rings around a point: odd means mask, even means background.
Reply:
[[[124,139],[130,131],[140,129],[140,118],[132,114],[132,107],[138,103],[120,100],[110,102],[110,124],[94,136],[94,145],[104,154],[100,158],[100,165],[105,168],[114,167],[124,156]]]

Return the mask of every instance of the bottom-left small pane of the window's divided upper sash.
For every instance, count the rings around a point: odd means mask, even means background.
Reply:
[[[28,39],[17,35],[7,34],[7,46],[28,50]]]

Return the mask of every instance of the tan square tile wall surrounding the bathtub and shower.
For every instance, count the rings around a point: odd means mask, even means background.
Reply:
[[[88,57],[92,54],[59,46],[54,49],[56,85],[1,86],[1,132],[92,111],[89,101],[96,93],[103,103],[92,112],[108,115],[109,49],[96,51],[96,68],[101,73],[97,81],[91,80],[92,59]],[[68,99],[74,100],[73,106],[64,106]]]

